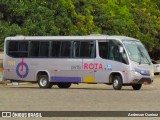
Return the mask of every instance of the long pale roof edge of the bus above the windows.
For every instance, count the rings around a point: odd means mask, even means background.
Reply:
[[[87,36],[13,36],[7,37],[5,40],[106,40],[106,39],[118,39],[118,40],[137,40],[135,38],[127,36],[117,35],[87,35]]]

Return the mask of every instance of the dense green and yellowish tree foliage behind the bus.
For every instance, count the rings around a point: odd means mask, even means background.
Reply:
[[[0,0],[0,49],[15,35],[125,35],[160,52],[159,0]],[[156,58],[160,55],[156,55]]]

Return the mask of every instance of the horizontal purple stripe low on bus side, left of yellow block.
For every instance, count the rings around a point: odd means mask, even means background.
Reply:
[[[81,77],[51,77],[52,82],[81,82]]]

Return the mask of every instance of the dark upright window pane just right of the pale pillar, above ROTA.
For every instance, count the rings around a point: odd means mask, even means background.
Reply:
[[[108,57],[108,42],[99,42],[99,55],[101,58]]]

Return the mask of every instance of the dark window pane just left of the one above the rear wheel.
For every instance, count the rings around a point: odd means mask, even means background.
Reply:
[[[38,41],[31,41],[30,44],[30,56],[38,57],[39,55],[39,43]]]

